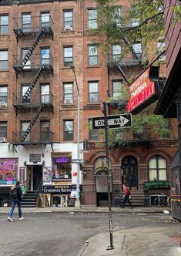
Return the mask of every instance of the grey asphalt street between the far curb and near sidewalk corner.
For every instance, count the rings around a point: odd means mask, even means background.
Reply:
[[[77,256],[89,237],[109,233],[107,213],[29,213],[24,221],[14,214],[13,222],[7,217],[0,215],[0,256]],[[114,232],[173,223],[169,214],[113,213],[112,224]]]

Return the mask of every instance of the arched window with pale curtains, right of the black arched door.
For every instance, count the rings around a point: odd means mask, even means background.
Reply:
[[[163,157],[149,159],[149,180],[166,180],[166,160]]]

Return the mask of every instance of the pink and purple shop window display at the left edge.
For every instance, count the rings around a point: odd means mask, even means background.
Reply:
[[[0,158],[0,185],[15,184],[18,174],[17,158]]]

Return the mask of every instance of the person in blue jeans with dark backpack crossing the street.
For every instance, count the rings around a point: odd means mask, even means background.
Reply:
[[[24,220],[24,217],[22,217],[22,208],[21,208],[21,202],[22,202],[22,187],[20,186],[20,181],[17,180],[15,183],[15,186],[10,188],[10,198],[12,199],[12,209],[9,212],[8,221],[12,220],[12,215],[15,210],[15,205],[18,205],[18,216],[19,220]]]

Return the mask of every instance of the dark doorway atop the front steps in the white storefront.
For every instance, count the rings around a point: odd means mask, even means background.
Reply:
[[[42,191],[42,165],[33,166],[33,190]]]

